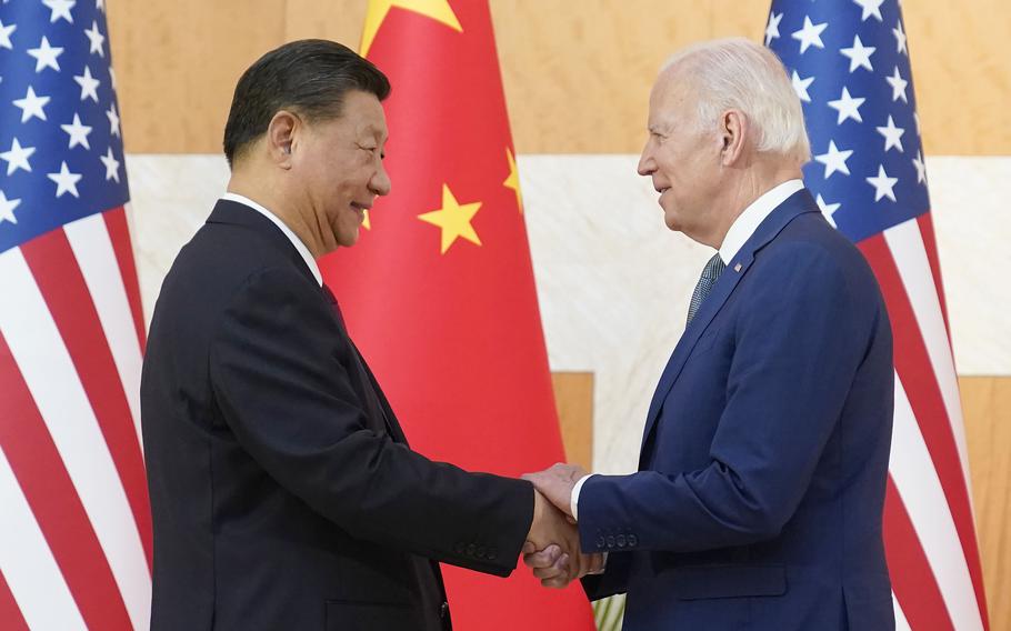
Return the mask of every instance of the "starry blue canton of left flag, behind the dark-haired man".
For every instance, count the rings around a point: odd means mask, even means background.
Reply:
[[[129,198],[103,0],[0,4],[0,252]]]

